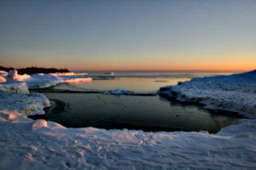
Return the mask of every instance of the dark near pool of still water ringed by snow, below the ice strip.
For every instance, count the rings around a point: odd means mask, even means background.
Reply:
[[[46,94],[53,107],[44,116],[66,127],[130,128],[144,131],[200,131],[217,133],[239,122],[238,116],[212,114],[198,105],[183,105],[160,96],[115,96],[110,94]],[[64,101],[64,105],[55,102]],[[63,103],[62,103],[63,104]],[[53,111],[55,109],[55,111]],[[220,113],[220,112],[218,112]],[[222,112],[223,113],[223,112]]]

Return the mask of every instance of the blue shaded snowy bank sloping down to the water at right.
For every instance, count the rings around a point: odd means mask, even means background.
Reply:
[[[231,76],[195,78],[166,86],[159,94],[168,94],[181,101],[206,105],[207,109],[236,111],[256,115],[256,71]]]

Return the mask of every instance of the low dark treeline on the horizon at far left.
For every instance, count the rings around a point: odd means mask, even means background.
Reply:
[[[0,66],[0,71],[9,71],[9,70],[17,70],[18,74],[36,74],[36,73],[55,73],[55,72],[69,72],[67,69],[56,69],[56,68],[43,68],[43,67],[27,67],[27,68],[21,68],[21,69],[15,69],[13,67],[3,67]]]

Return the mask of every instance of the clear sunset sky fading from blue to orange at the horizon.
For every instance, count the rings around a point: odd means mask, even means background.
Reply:
[[[0,0],[0,65],[256,69],[254,0]]]

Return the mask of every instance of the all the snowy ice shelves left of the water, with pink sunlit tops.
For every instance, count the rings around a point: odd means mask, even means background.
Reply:
[[[30,94],[29,88],[48,88],[63,82],[87,82],[90,77],[57,77],[52,74],[18,75],[17,71],[1,71],[7,82],[0,82],[0,111],[16,111],[23,116],[42,115],[49,107],[44,94]]]

